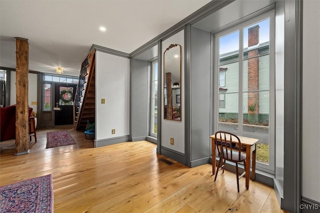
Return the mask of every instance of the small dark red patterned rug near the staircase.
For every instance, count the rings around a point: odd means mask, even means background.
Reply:
[[[46,132],[46,147],[52,148],[62,145],[76,144],[74,139],[69,135],[67,131],[51,131]]]

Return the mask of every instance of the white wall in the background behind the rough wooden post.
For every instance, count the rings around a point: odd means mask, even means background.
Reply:
[[[16,103],[15,96],[15,71],[11,71],[11,80],[10,80],[10,105]],[[36,112],[37,104],[31,104],[32,102],[37,103],[37,74],[28,73],[28,104],[33,111]]]

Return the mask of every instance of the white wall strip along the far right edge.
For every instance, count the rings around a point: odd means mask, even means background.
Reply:
[[[320,1],[303,0],[302,196],[320,202]]]

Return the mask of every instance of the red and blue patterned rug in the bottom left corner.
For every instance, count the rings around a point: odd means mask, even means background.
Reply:
[[[0,212],[52,212],[51,174],[0,186]]]

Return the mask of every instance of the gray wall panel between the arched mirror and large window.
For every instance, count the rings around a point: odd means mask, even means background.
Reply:
[[[190,29],[190,166],[208,163],[210,149],[211,33]]]

